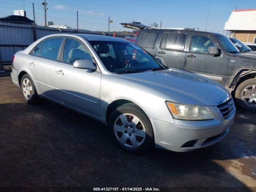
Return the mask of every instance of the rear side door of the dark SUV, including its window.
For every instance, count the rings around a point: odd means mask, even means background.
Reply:
[[[156,52],[156,57],[168,67],[184,68],[186,50],[185,44],[188,33],[165,32],[162,35],[161,44]]]

